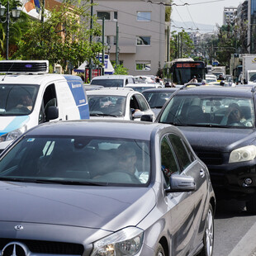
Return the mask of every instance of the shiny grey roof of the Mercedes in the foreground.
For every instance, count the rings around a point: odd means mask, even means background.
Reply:
[[[146,121],[118,120],[79,120],[51,121],[35,126],[26,135],[65,135],[65,136],[97,136],[124,138],[133,140],[150,140],[154,130],[162,130],[171,125]],[[173,130],[176,128],[174,126]]]

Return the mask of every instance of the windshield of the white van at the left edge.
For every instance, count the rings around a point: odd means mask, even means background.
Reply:
[[[39,86],[0,85],[0,116],[23,116],[31,113]]]

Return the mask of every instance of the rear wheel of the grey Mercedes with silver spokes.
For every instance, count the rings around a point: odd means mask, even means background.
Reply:
[[[214,220],[213,220],[212,206],[209,205],[209,209],[206,215],[206,230],[203,236],[203,248],[201,249],[200,256],[212,256],[213,244],[214,244]]]

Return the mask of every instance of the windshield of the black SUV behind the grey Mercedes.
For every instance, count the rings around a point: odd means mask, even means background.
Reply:
[[[178,126],[255,126],[254,102],[246,97],[176,95],[159,121]]]

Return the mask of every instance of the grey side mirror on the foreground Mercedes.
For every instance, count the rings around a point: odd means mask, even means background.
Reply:
[[[170,177],[170,187],[165,192],[192,192],[197,188],[194,178],[173,174]]]

